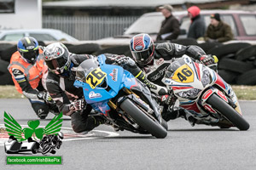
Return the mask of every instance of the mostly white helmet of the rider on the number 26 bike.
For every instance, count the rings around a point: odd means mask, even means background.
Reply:
[[[61,42],[51,43],[44,48],[44,60],[49,71],[62,74],[69,71],[71,59],[67,47]]]

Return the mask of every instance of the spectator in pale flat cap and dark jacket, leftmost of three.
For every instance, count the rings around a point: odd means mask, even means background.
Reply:
[[[156,40],[173,40],[177,39],[179,35],[179,22],[172,15],[173,8],[171,5],[165,5],[161,8],[162,14],[166,17],[166,20],[163,20],[160,32],[156,37]]]

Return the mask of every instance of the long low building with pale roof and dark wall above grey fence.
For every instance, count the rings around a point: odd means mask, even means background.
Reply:
[[[60,0],[43,3],[43,14],[141,16],[157,11],[163,4],[171,4],[177,10],[186,10],[192,5],[203,9],[224,9],[232,4],[249,4],[253,1],[255,0]]]

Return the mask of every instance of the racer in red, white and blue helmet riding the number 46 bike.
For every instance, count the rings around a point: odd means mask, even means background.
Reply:
[[[158,87],[165,86],[161,80],[165,75],[167,67],[172,63],[173,59],[181,57],[183,54],[188,54],[194,59],[200,60],[205,65],[216,65],[217,58],[207,55],[203,49],[198,46],[183,46],[172,42],[155,43],[148,34],[138,34],[131,38],[130,42],[131,54],[137,65],[143,69],[143,72],[138,77],[147,77],[149,82],[157,84]],[[116,61],[119,65],[131,65],[133,59],[125,56],[119,56]],[[158,90],[161,88],[150,88],[155,94],[159,94]],[[161,103],[165,106],[163,111],[163,118],[166,121],[176,119],[179,116],[184,116],[186,119],[185,111],[177,107],[171,108],[176,98],[170,94],[161,96]]]

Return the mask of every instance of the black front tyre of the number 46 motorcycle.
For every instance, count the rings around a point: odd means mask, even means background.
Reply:
[[[233,109],[223,99],[220,99],[217,94],[212,94],[212,96],[207,99],[207,103],[212,105],[215,110],[219,111],[240,130],[249,129],[250,124],[235,109]]]

